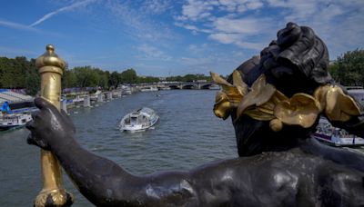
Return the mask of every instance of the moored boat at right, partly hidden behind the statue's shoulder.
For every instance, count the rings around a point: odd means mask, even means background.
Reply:
[[[319,125],[313,137],[322,143],[334,146],[360,146],[364,145],[364,139],[350,134],[343,129],[336,128],[326,118],[320,118]]]

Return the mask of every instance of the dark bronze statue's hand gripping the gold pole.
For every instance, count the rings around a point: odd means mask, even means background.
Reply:
[[[76,133],[75,125],[64,111],[58,112],[43,98],[35,98],[35,106],[40,111],[32,114],[33,121],[26,123],[26,128],[31,131],[27,143],[50,150],[52,142],[62,141]]]

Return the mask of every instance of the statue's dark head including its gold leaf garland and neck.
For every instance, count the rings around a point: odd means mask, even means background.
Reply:
[[[214,112],[223,119],[231,115],[240,155],[294,146],[316,131],[321,113],[334,121],[359,113],[355,102],[333,85],[328,49],[311,28],[288,23],[277,36],[227,81],[212,73],[222,86]],[[335,97],[349,103],[349,112],[343,102],[329,101]]]

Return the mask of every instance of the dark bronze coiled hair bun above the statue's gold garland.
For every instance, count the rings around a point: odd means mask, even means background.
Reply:
[[[260,52],[259,67],[268,83],[288,97],[312,94],[319,85],[333,82],[328,48],[311,28],[294,23],[279,30],[277,40]]]

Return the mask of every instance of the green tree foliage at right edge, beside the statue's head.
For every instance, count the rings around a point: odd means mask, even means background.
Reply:
[[[342,85],[364,85],[364,50],[356,49],[338,57],[329,72]]]

